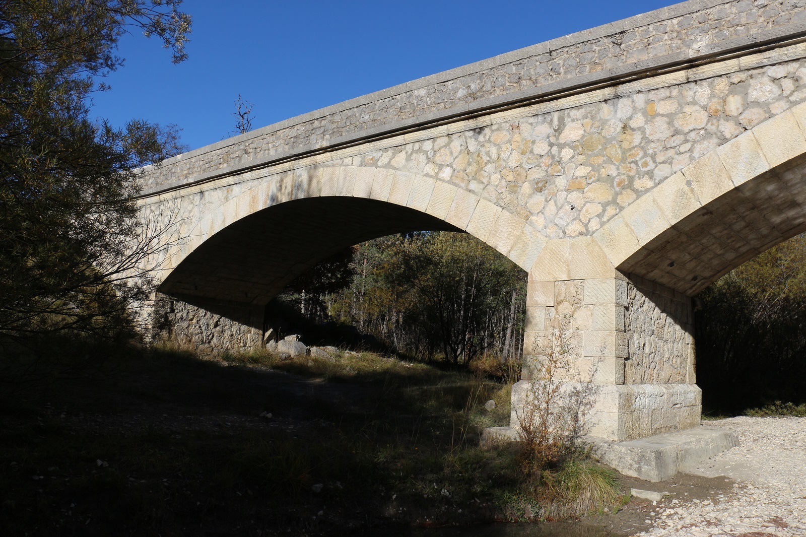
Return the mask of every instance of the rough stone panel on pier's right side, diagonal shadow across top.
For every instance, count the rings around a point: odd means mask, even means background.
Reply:
[[[692,299],[632,277],[627,300],[625,384],[694,384]]]

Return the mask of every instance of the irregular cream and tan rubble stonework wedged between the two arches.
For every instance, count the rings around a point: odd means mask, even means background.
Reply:
[[[528,220],[550,239],[591,235],[694,160],[806,101],[804,68],[798,60],[665,85],[350,162],[438,177]]]

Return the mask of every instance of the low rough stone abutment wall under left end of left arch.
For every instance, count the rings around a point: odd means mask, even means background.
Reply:
[[[155,339],[202,355],[263,346],[264,306],[156,293]]]

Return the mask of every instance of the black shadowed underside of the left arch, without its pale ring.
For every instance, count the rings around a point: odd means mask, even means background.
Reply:
[[[248,214],[189,252],[160,285],[173,296],[264,304],[293,278],[343,248],[409,231],[463,231],[409,207],[317,197]]]

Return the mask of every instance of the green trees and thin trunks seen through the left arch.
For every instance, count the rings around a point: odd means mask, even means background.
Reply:
[[[318,323],[355,327],[391,352],[470,366],[517,361],[526,272],[472,235],[391,235],[325,260],[280,295]]]

